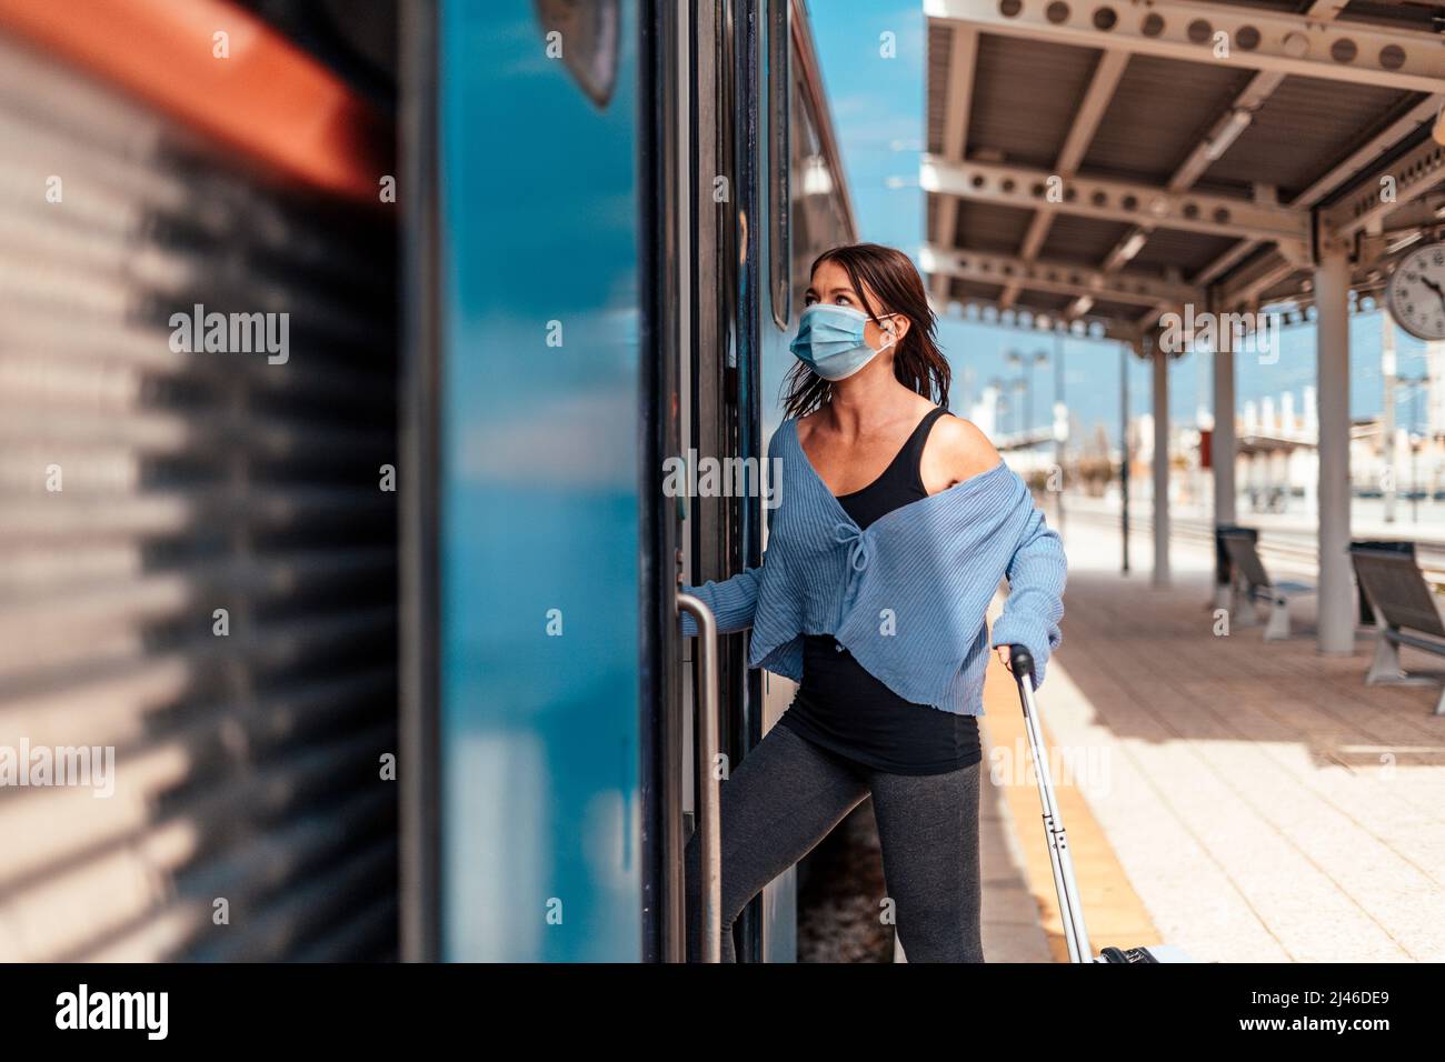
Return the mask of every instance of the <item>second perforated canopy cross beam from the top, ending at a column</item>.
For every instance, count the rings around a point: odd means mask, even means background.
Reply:
[[[1214,236],[1308,240],[1309,215],[1276,204],[1224,195],[1170,192],[1129,181],[1101,181],[993,162],[951,163],[925,155],[925,191],[1025,210],[1061,211],[1110,221],[1136,221]]]

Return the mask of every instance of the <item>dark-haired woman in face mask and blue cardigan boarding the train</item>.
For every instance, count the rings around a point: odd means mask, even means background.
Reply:
[[[866,796],[910,962],[981,962],[978,715],[993,644],[1059,642],[1064,551],[1027,487],[948,407],[948,361],[913,263],[877,244],[814,263],[792,350],[780,506],[764,564],[688,587],[749,663],[798,695],[722,785],[722,957],[733,922]],[[938,405],[933,405],[936,396]],[[990,642],[985,613],[1010,594]],[[691,620],[685,633],[694,633]],[[699,954],[698,838],[688,845]]]

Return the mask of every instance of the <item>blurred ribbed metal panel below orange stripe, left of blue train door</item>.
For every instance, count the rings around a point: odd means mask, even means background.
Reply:
[[[4,36],[0,144],[0,959],[392,957],[394,233]]]

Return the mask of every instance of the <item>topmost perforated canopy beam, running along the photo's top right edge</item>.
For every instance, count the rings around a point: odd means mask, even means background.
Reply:
[[[1413,92],[1445,88],[1445,48],[1433,33],[1418,30],[1192,0],[923,0],[923,13],[988,33],[1084,48]]]

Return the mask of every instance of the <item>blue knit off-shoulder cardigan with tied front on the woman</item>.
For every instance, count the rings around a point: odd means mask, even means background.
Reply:
[[[793,419],[767,452],[782,458],[782,483],[762,566],[686,587],[721,633],[753,629],[749,666],[802,681],[803,634],[831,634],[903,699],[961,715],[983,715],[990,644],[1027,646],[1043,682],[1061,639],[1064,546],[1017,472],[1000,461],[858,527]],[[988,603],[1004,577],[990,640]],[[692,617],[683,633],[696,633]]]

